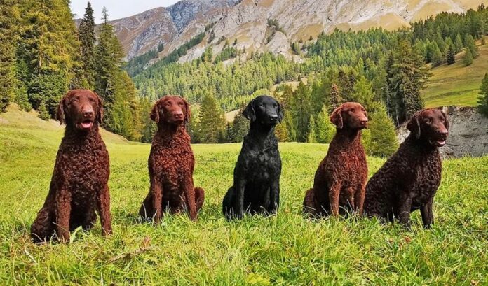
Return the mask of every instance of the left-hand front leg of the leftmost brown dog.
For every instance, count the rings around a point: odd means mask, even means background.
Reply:
[[[56,196],[56,234],[62,242],[69,241],[69,218],[71,216],[72,194],[66,186]]]

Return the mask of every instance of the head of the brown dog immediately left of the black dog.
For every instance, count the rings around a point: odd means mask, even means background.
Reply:
[[[190,106],[181,96],[163,96],[154,103],[151,120],[158,124],[186,124],[190,120]]]

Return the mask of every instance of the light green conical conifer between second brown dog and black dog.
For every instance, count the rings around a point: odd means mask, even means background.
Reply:
[[[225,130],[224,113],[212,94],[203,97],[200,106],[200,134],[203,143],[217,143]]]

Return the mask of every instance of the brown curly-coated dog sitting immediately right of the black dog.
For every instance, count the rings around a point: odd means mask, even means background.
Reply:
[[[365,149],[361,145],[361,129],[368,122],[366,110],[359,103],[347,102],[334,110],[330,121],[337,131],[318,166],[313,188],[305,194],[304,213],[338,215],[345,209],[361,213],[367,179]]]

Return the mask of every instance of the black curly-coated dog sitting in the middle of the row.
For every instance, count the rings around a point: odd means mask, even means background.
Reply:
[[[248,213],[276,213],[280,204],[281,158],[274,129],[283,120],[280,103],[271,96],[257,96],[243,111],[250,120],[234,169],[222,212],[231,219]]]

